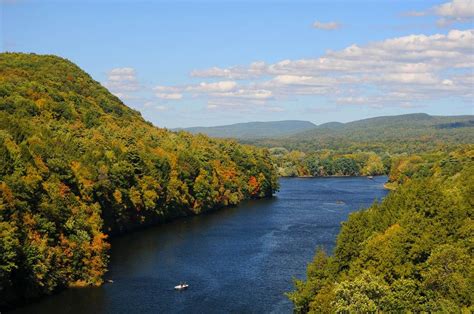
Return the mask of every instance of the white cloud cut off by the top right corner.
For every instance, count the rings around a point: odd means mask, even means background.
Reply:
[[[440,27],[449,26],[454,22],[472,23],[474,21],[474,0],[452,0],[434,7],[426,11],[407,12],[409,16],[438,16],[436,24]]]

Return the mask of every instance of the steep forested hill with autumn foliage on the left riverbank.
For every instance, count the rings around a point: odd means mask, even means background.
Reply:
[[[156,128],[65,59],[0,54],[0,309],[100,284],[107,233],[276,188],[266,150]]]

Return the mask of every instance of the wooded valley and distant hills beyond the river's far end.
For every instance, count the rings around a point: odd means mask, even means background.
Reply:
[[[416,162],[419,154],[474,143],[474,116],[418,113],[318,126],[289,120],[188,130],[269,147],[282,177],[371,176],[388,174],[394,162],[406,163],[408,156]]]

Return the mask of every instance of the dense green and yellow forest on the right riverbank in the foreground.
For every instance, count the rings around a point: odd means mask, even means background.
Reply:
[[[474,146],[393,161],[381,203],[342,226],[288,294],[295,312],[474,310]]]

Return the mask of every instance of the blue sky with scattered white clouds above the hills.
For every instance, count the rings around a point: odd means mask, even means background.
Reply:
[[[474,0],[0,0],[1,51],[71,60],[160,127],[474,114]]]

